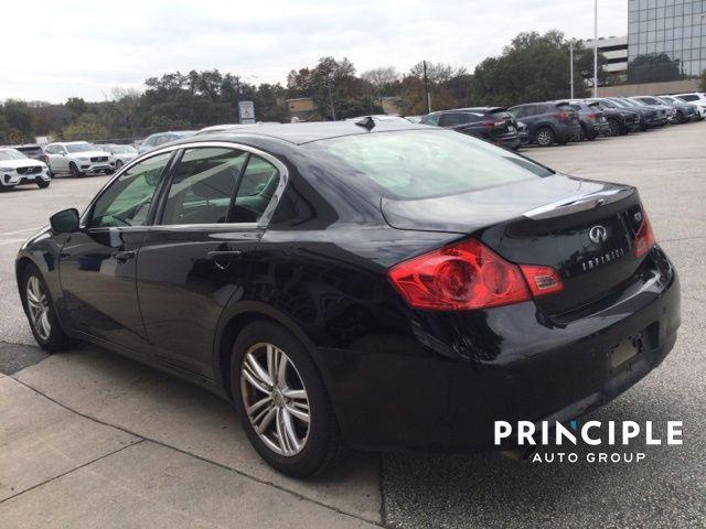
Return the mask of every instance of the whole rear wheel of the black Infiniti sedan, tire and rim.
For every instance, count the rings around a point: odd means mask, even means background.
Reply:
[[[276,366],[285,365],[286,379],[279,379],[278,369],[268,368],[270,357],[279,360],[272,363]],[[272,379],[279,381],[272,385]],[[306,347],[284,327],[258,321],[240,331],[231,356],[231,387],[248,440],[278,472],[312,476],[341,454],[341,435],[323,380]],[[253,409],[256,403],[260,406]],[[261,434],[254,423],[260,428],[265,423]],[[278,432],[290,434],[279,436]]]

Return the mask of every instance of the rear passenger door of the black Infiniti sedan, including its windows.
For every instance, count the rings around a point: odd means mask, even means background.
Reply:
[[[265,154],[223,145],[183,150],[137,268],[156,354],[210,378],[218,320],[229,300],[248,295],[260,223],[284,171]]]

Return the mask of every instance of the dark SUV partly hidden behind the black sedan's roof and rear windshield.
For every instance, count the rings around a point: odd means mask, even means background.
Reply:
[[[420,122],[474,136],[509,149],[518,149],[522,144],[517,123],[503,107],[441,110],[425,116]]]

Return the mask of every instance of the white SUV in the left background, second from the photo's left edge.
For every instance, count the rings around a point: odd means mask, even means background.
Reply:
[[[65,141],[50,143],[44,148],[49,156],[52,174],[84,176],[85,174],[113,174],[115,162],[110,162],[110,153],[87,141]]]

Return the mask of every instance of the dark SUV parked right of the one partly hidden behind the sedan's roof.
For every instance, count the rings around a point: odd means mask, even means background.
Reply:
[[[509,110],[530,129],[530,140],[539,147],[565,144],[581,136],[578,112],[567,102],[530,102]]]

